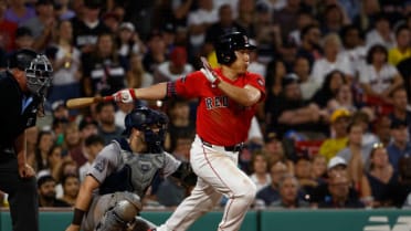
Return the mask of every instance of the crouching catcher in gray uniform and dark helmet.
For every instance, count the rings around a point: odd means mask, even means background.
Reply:
[[[125,118],[126,138],[113,140],[96,157],[81,186],[74,217],[66,231],[148,230],[155,225],[137,217],[141,199],[157,174],[193,186],[197,177],[189,164],[165,153],[168,118],[138,107]]]

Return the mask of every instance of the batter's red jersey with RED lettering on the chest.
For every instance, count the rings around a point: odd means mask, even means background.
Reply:
[[[251,85],[261,91],[260,101],[265,98],[264,78],[254,73],[245,73],[235,81],[222,76],[221,69],[214,70],[223,81],[244,87]],[[197,134],[213,145],[232,146],[245,141],[256,104],[242,106],[229,98],[211,84],[202,72],[197,71],[175,82],[176,94],[186,98],[199,98],[197,107]]]

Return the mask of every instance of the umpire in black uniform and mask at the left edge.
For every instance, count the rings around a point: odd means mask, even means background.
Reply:
[[[9,195],[13,231],[39,231],[35,172],[27,164],[25,129],[44,113],[51,85],[49,60],[31,50],[19,50],[0,72],[0,190]]]

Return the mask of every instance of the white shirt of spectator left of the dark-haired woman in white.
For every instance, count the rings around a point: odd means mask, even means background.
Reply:
[[[333,63],[325,57],[315,61],[310,75],[313,80],[318,83],[318,85],[323,85],[325,76],[335,70],[338,70],[346,75],[354,76],[352,64],[349,61],[348,56],[344,53],[339,53],[337,55],[336,62]]]

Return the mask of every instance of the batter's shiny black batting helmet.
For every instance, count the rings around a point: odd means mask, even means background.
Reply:
[[[249,38],[242,32],[231,32],[219,38],[215,43],[217,61],[221,64],[230,64],[235,61],[236,50],[254,50]]]

